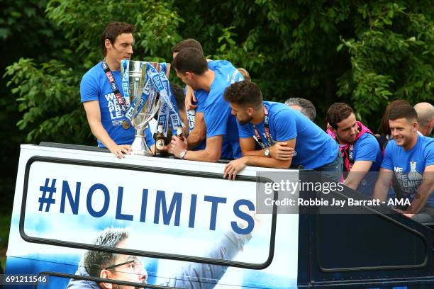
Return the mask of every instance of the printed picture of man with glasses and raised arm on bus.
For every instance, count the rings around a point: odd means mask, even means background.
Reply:
[[[232,230],[223,234],[213,249],[205,256],[210,259],[232,260],[243,250],[252,234],[235,234]],[[129,232],[123,228],[107,228],[102,231],[92,243],[98,246],[133,249]],[[220,280],[227,266],[208,263],[189,263],[182,268],[174,278],[170,278],[169,286],[174,288],[214,288],[216,280]],[[77,272],[78,276],[92,276],[111,280],[122,280],[142,283],[145,288],[148,272],[137,256],[114,254],[105,251],[89,250],[83,256]],[[207,280],[199,283],[198,280]],[[199,287],[198,287],[199,285]],[[67,289],[127,289],[126,285],[113,283],[96,283],[94,281],[71,279]]]

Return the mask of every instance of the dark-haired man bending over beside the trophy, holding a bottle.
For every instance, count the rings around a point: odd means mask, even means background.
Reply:
[[[184,84],[191,86],[194,91],[206,94],[204,98],[199,98],[204,99],[205,149],[187,150],[187,141],[182,142],[174,137],[174,155],[180,159],[202,162],[240,157],[235,118],[230,114],[229,104],[223,98],[225,89],[234,81],[242,79],[240,72],[228,61],[207,63],[203,53],[194,48],[179,51],[172,65]]]

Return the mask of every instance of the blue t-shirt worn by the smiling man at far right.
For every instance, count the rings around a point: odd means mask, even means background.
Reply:
[[[416,145],[408,151],[396,145],[395,140],[389,141],[384,152],[382,168],[395,172],[404,197],[413,200],[421,186],[425,167],[431,165],[434,165],[434,140],[418,135]],[[433,192],[427,204],[434,206]]]

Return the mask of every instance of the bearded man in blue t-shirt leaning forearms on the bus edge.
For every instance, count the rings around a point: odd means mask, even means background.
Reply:
[[[225,99],[238,120],[243,157],[226,166],[224,177],[235,179],[245,166],[288,169],[295,164],[340,181],[338,144],[305,115],[283,103],[262,101],[259,87],[250,81],[231,84]],[[262,149],[257,150],[256,143]],[[285,160],[273,157],[270,150],[274,144],[294,149],[294,156]]]

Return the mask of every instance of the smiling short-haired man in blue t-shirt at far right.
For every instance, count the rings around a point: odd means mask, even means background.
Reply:
[[[386,200],[393,174],[411,205],[398,210],[418,222],[434,222],[434,140],[418,135],[418,115],[409,104],[392,108],[391,136],[375,184],[374,198]]]

